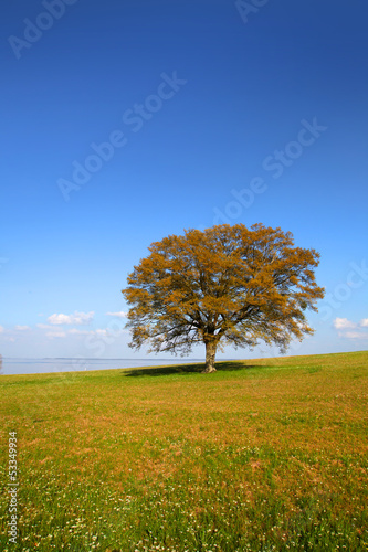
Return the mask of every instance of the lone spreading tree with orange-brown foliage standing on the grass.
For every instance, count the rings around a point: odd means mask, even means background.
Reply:
[[[315,250],[294,247],[293,235],[254,224],[218,225],[170,235],[149,247],[123,289],[130,306],[130,347],[186,354],[206,344],[204,372],[214,372],[218,348],[254,347],[284,352],[293,338],[313,333],[305,310],[324,289],[315,282]]]

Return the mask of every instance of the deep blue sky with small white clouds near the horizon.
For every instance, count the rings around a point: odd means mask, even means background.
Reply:
[[[367,19],[357,0],[8,2],[0,352],[141,358],[127,274],[223,222],[320,252],[327,297],[290,353],[367,349]]]

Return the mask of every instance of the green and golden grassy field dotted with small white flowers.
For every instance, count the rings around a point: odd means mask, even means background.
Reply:
[[[368,550],[368,352],[202,368],[1,375],[0,550]]]

